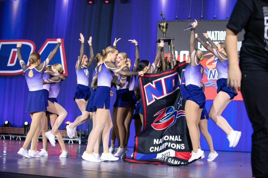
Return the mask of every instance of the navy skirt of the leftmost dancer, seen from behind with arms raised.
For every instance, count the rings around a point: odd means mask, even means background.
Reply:
[[[41,112],[46,111],[46,102],[43,89],[37,91],[29,91],[25,112]]]

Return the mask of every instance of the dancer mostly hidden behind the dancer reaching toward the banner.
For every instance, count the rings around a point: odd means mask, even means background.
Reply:
[[[93,76],[92,78],[94,78],[96,72],[97,72],[97,68],[100,64],[103,63],[103,60],[104,60],[104,57],[102,55],[102,52],[99,52],[97,53],[96,57],[94,58],[94,61],[97,63],[97,66],[95,67],[95,72],[93,72]],[[94,100],[94,97],[95,97],[95,93],[96,93],[96,89],[94,85],[91,86],[91,88],[93,88],[93,92],[91,93],[90,95],[90,98],[88,99],[88,104],[87,104],[87,107],[86,107],[86,111],[88,112],[92,112],[92,121],[93,121],[93,127],[92,129],[94,129],[96,127],[96,111],[97,111],[97,108],[96,107],[93,107],[93,100]],[[90,136],[91,134],[89,134],[88,136],[88,144],[89,144],[89,140],[90,140]],[[94,146],[94,156],[96,158],[100,158],[100,155],[99,155],[99,144],[100,144],[100,141],[101,141],[101,137],[102,137],[102,134],[99,135],[97,141],[96,141],[96,144]],[[88,150],[88,145],[87,145],[87,150]],[[82,155],[82,158],[84,159],[84,156],[85,156],[85,153],[86,151],[83,153]]]

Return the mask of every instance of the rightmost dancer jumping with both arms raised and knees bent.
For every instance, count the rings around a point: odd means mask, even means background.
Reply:
[[[231,87],[227,86],[228,78],[228,58],[225,51],[225,42],[220,42],[215,45],[212,40],[208,37],[208,34],[203,34],[208,40],[208,45],[205,41],[200,39],[196,34],[196,39],[205,47],[209,52],[214,54],[217,58],[216,69],[218,72],[217,80],[217,96],[215,97],[211,108],[209,110],[209,117],[227,134],[229,141],[229,147],[235,147],[241,136],[240,131],[234,131],[229,125],[227,120],[221,116],[223,110],[230,103],[230,101],[237,95],[236,91],[232,90]]]

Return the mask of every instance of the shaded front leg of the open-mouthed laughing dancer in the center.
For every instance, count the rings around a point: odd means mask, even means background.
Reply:
[[[126,128],[125,128],[125,119],[127,117],[128,111],[130,107],[120,107],[117,109],[116,123],[119,130],[119,139],[120,139],[120,147],[124,148],[124,142],[126,138]]]

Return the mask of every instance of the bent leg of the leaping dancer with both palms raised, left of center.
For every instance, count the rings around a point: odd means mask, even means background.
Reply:
[[[87,101],[85,101],[85,99],[75,99],[75,102],[77,103],[82,115],[78,116],[74,120],[73,124],[70,126],[71,129],[75,128],[77,125],[80,125],[81,122],[89,117],[89,112],[85,110],[87,107]]]

